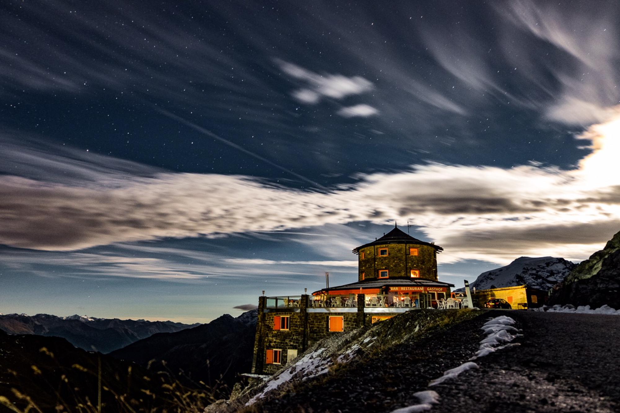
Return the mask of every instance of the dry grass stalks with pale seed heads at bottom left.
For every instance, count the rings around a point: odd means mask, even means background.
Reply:
[[[50,360],[56,360],[47,348],[43,347],[40,352]],[[45,400],[46,406],[43,407],[43,401],[37,394],[27,394],[27,389],[20,391],[17,387],[11,388],[11,394],[0,396],[0,406],[16,413],[47,413],[52,411],[50,408],[59,413],[201,413],[222,390],[219,384],[210,388],[203,382],[184,380],[192,385],[190,387],[181,383],[166,363],[162,364],[163,370],[147,371],[146,375],[141,369],[141,373],[136,373],[133,366],[129,366],[124,373],[102,371],[100,355],[94,369],[78,363],[74,363],[69,370],[60,365],[57,369],[32,365],[31,379],[47,385],[46,394],[55,395],[55,407],[49,407],[50,402],[52,406],[54,404],[50,400]],[[17,373],[9,373],[17,383]],[[96,388],[92,388],[91,383]]]

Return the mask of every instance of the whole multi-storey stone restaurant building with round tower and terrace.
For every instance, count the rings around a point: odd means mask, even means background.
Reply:
[[[260,297],[252,373],[275,373],[318,340],[449,298],[454,285],[437,278],[441,251],[395,227],[353,249],[357,282],[312,295]]]

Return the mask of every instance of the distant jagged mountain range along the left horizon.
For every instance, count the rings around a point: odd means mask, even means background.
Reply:
[[[177,332],[199,326],[172,321],[120,320],[50,314],[0,315],[0,330],[9,334],[37,334],[62,337],[76,347],[101,353],[121,349],[153,334]]]

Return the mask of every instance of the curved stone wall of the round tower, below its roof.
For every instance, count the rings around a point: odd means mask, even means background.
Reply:
[[[387,248],[388,255],[381,256],[380,248]],[[418,255],[409,255],[410,248],[417,248]],[[378,278],[379,270],[388,270],[389,277],[410,277],[411,270],[419,270],[420,278],[437,280],[436,249],[419,244],[384,244],[365,247],[359,251],[358,279]]]

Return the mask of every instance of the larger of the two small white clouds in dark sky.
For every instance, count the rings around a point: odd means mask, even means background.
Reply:
[[[342,74],[317,74],[293,63],[276,60],[282,71],[306,83],[306,87],[293,92],[299,102],[316,104],[321,97],[342,99],[373,90],[373,83],[361,76],[348,78]]]

